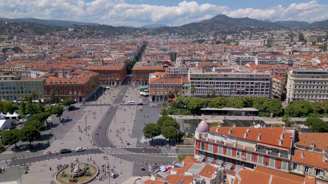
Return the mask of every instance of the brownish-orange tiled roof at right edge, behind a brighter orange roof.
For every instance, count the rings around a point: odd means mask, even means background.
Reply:
[[[317,149],[328,149],[328,143],[326,141],[328,133],[302,133],[297,134],[295,138],[295,144],[300,146],[310,147],[315,143]]]

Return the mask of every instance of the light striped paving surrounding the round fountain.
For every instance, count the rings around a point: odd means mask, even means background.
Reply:
[[[83,152],[80,152],[80,154],[83,154]],[[63,154],[65,155],[65,154]],[[112,156],[108,156],[107,160],[104,160],[104,155],[80,155],[77,156],[80,163],[88,163],[87,158],[92,158],[92,160],[95,161],[96,166],[99,168],[100,170],[100,174],[99,175],[103,175],[102,173],[102,168],[101,165],[106,164],[106,162],[109,163],[109,170],[111,171],[111,169],[113,168],[113,164],[114,164],[114,172],[119,173],[119,176],[115,179],[111,178],[110,182],[111,183],[115,183],[115,181],[117,181],[118,184],[121,184],[123,181],[129,179],[132,176],[132,169],[133,168],[133,163],[132,162],[128,162],[128,161],[124,161],[124,160],[120,160],[118,158],[114,158]],[[58,159],[51,159],[51,160],[46,160],[46,161],[41,161],[41,162],[37,162],[37,163],[33,163],[30,167],[29,167],[29,173],[26,175],[22,175],[22,183],[23,184],[35,184],[35,183],[40,183],[40,184],[53,184],[53,178],[55,176],[55,174],[57,173],[57,164],[70,164],[73,161],[74,158],[72,157],[63,157],[62,159],[58,160]],[[120,162],[122,161],[122,164],[120,164]],[[89,163],[92,163],[92,161]],[[51,167],[51,171],[50,171],[50,167]],[[122,172],[122,174],[120,174],[120,170]],[[37,180],[36,180],[37,178]],[[93,180],[90,183],[107,183],[108,182],[108,177],[106,177],[105,180]],[[17,181],[18,184],[21,184],[20,180]]]

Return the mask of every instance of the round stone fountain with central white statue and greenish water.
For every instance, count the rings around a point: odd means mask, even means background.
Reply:
[[[75,164],[72,164],[71,167],[65,167],[56,173],[54,179],[57,184],[86,184],[91,182],[95,176],[98,175],[98,169],[95,165],[90,163],[80,164],[77,157],[74,158],[74,162]]]

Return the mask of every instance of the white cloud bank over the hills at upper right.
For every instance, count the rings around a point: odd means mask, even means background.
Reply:
[[[318,4],[318,1],[309,1],[307,3],[293,3],[288,8],[278,5],[269,9],[237,9],[230,11],[223,11],[222,13],[234,17],[249,17],[257,20],[269,19],[271,21],[307,21],[312,23],[314,21],[328,19],[326,11],[328,5]]]

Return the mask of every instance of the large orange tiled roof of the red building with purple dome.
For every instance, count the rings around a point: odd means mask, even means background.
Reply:
[[[229,128],[232,128],[231,134],[228,134]],[[249,128],[250,131],[248,132],[247,138],[244,138],[244,134],[247,129],[248,127],[220,127],[219,131],[216,132],[216,127],[211,127],[209,132],[252,140],[255,142],[261,142],[283,148],[291,148],[292,146],[292,138],[290,138],[289,136],[293,136],[293,134],[289,132],[283,132],[283,127]],[[282,145],[279,145],[279,140],[277,137],[280,137],[282,132],[284,133],[284,138]],[[262,136],[260,140],[257,140],[259,133]]]

